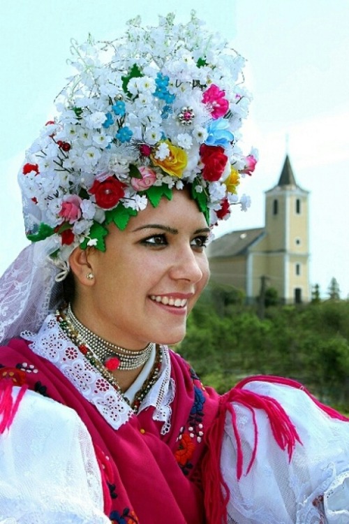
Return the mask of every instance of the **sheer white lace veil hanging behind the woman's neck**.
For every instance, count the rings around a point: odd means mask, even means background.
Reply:
[[[0,343],[22,331],[36,332],[63,298],[50,238],[24,248],[0,278]]]

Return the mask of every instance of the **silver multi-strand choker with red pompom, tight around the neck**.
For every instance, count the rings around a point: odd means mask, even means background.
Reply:
[[[124,347],[107,342],[103,338],[98,337],[96,333],[90,331],[79,320],[77,320],[73,313],[70,304],[66,311],[66,321],[70,322],[76,333],[80,335],[82,340],[89,346],[89,348],[98,357],[98,360],[107,367],[108,370],[129,371],[136,370],[138,367],[143,367],[149,360],[151,351],[154,349],[153,342],[150,342],[147,347],[140,351],[132,351]]]

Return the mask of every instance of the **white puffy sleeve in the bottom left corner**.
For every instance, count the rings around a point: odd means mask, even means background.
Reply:
[[[87,428],[73,409],[32,391],[0,435],[0,523],[110,524]]]

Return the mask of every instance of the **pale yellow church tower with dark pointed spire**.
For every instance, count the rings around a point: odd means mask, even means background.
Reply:
[[[285,303],[309,302],[309,191],[297,185],[288,156],[265,193],[265,233],[267,284]]]

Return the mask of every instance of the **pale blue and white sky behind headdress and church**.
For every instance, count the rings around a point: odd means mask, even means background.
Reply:
[[[279,180],[286,149],[297,182],[311,192],[311,284],[325,295],[336,277],[349,295],[348,0],[12,0],[1,6],[0,273],[27,244],[17,170],[24,150],[52,116],[70,68],[70,38],[113,38],[140,14],[145,23],[190,10],[248,59],[253,92],[246,152],[260,162],[244,189],[253,206],[234,212],[218,233],[264,225],[264,191]],[[286,145],[288,136],[288,145]]]

